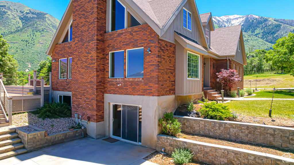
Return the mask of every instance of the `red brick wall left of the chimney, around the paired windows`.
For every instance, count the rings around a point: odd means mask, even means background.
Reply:
[[[71,92],[72,79],[59,79],[59,59],[72,57],[72,41],[61,43],[54,47],[52,52],[52,90]],[[74,58],[72,59],[74,63]]]

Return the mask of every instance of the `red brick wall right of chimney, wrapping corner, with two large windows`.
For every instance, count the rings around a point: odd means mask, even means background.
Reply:
[[[144,47],[144,78],[108,78],[109,52]],[[151,53],[146,50],[151,48]],[[176,45],[158,38],[148,25],[135,26],[105,34],[105,93],[118,95],[163,96],[175,94]],[[121,86],[117,86],[121,84]]]

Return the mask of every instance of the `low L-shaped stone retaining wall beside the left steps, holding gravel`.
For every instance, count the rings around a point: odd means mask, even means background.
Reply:
[[[45,137],[45,130],[39,129],[37,127],[34,127],[30,124],[26,124],[31,128],[34,128],[35,132],[28,132],[24,129],[21,129],[19,127],[15,128],[16,133],[19,134],[19,138],[21,139],[21,142],[24,144],[24,148],[27,149],[27,151],[34,151],[40,148],[48,147],[54,144],[59,144],[63,142],[68,142],[74,139],[82,138],[82,132],[83,136],[86,136],[86,128],[82,129],[74,129],[73,131],[65,131],[60,132],[57,134],[51,134]]]

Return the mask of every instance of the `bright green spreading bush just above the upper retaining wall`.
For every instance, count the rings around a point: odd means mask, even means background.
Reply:
[[[218,104],[216,102],[201,102],[204,105],[201,105],[199,112],[204,118],[215,119],[215,120],[224,120],[230,117],[234,117],[227,105]]]

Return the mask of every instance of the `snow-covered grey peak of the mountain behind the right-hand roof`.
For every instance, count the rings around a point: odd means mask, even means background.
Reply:
[[[260,16],[255,16],[255,15],[245,15],[245,16],[240,16],[240,15],[232,15],[232,16],[213,16],[213,21],[216,25],[221,26],[221,27],[226,27],[226,26],[233,26],[233,25],[240,25],[243,24],[245,21],[248,21],[253,18],[260,18]]]

